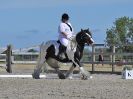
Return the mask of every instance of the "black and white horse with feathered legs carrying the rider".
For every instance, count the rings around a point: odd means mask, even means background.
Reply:
[[[81,78],[84,80],[88,79],[90,77],[89,72],[85,71],[80,63],[86,43],[88,45],[92,45],[94,43],[92,34],[89,29],[81,29],[80,32],[78,32],[69,40],[69,44],[66,49],[66,54],[64,53],[63,58],[59,58],[58,55],[59,51],[61,51],[60,46],[63,46],[59,40],[50,40],[47,41],[45,44],[42,43],[40,46],[38,62],[32,74],[33,78],[40,79],[39,76],[42,71],[41,68],[44,63],[47,63],[50,67],[55,69],[60,79],[72,78],[72,73],[76,66],[79,67]],[[72,63],[72,66],[66,74],[60,71],[59,62]]]

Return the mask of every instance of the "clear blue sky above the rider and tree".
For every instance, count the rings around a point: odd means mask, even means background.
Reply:
[[[106,29],[116,18],[133,17],[133,0],[0,0],[0,47],[39,45],[57,40],[66,12],[75,33],[90,28],[95,43],[104,43]]]

